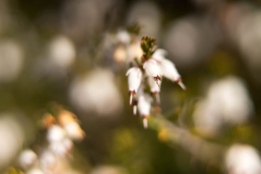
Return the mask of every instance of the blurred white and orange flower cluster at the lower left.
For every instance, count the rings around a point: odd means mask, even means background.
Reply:
[[[40,146],[40,151],[35,151],[37,153],[25,149],[19,155],[19,164],[26,173],[57,173],[64,170],[66,160],[73,158],[73,141],[85,137],[77,117],[67,110],[60,110],[57,119],[46,113],[42,125],[46,129],[47,145]]]

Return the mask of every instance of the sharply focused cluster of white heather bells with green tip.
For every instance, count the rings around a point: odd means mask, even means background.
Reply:
[[[165,57],[167,51],[158,49],[155,45],[155,38],[143,37],[141,39],[143,55],[141,58],[134,58],[135,65],[126,73],[130,95],[129,104],[133,105],[134,115],[138,109],[140,116],[143,117],[144,128],[147,128],[147,117],[150,115],[153,102],[151,95],[155,96],[157,104],[160,104],[159,92],[162,77],[177,82],[182,89],[186,90],[175,64]],[[149,85],[151,95],[145,93],[146,84]]]

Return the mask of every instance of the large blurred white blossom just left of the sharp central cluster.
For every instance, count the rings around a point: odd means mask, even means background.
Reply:
[[[122,110],[122,97],[109,70],[96,69],[83,78],[77,78],[70,86],[72,104],[84,112],[101,116],[115,115]]]

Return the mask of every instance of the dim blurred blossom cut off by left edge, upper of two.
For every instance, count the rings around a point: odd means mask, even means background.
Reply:
[[[23,50],[15,40],[0,41],[0,82],[15,80],[23,65]]]

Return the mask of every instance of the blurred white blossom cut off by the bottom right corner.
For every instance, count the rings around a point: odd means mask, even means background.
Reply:
[[[250,145],[236,144],[226,153],[225,165],[228,174],[259,174],[261,159],[256,148]]]

